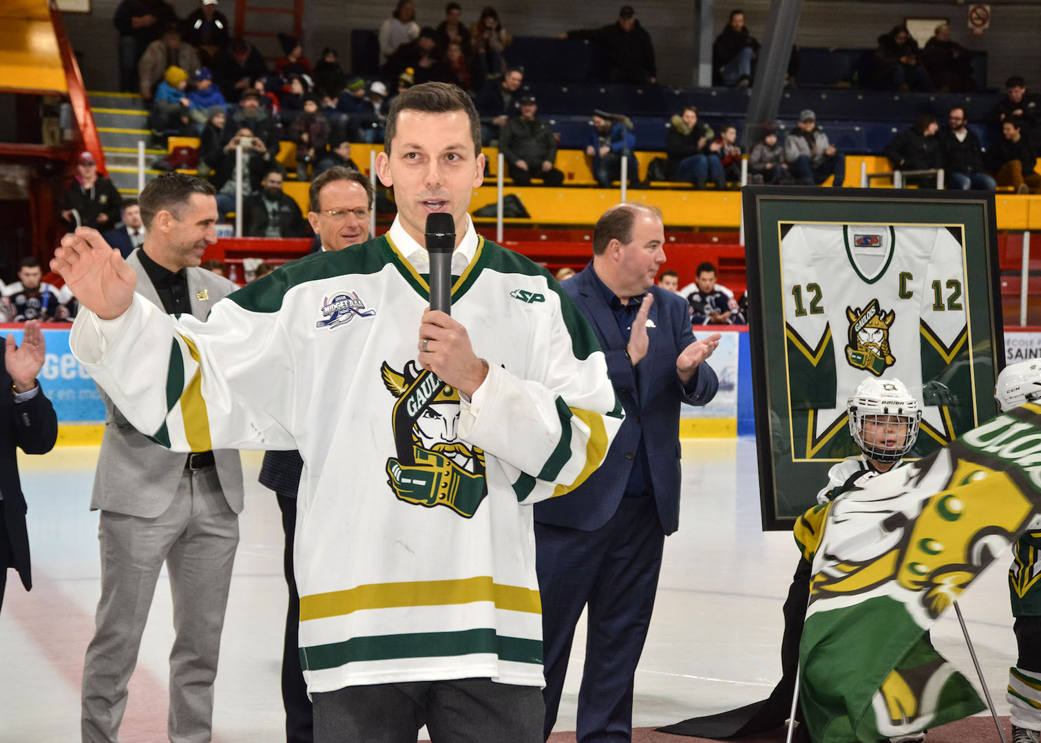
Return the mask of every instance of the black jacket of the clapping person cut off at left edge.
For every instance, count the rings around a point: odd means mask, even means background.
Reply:
[[[0,569],[8,567],[3,564],[3,555],[7,552],[4,547],[9,546],[15,558],[9,567],[18,569],[22,585],[29,590],[32,588],[29,535],[25,529],[25,495],[18,477],[16,450],[21,447],[26,454],[50,452],[58,437],[58,419],[43,389],[32,400],[16,404],[10,384],[10,375],[0,363],[0,492],[3,493],[0,509],[6,527],[0,530],[0,541],[5,543],[0,545]]]

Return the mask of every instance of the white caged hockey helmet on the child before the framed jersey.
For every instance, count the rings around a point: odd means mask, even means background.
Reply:
[[[868,377],[859,385],[846,404],[849,413],[849,433],[868,458],[875,462],[896,462],[911,451],[918,439],[918,424],[921,409],[918,401],[898,379],[875,379]],[[864,434],[865,421],[906,424],[907,432],[903,443],[887,446],[878,443]]]

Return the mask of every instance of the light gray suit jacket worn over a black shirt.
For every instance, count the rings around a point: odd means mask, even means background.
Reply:
[[[159,294],[141,264],[134,251],[127,264],[137,273],[137,293],[162,309]],[[185,268],[192,314],[205,319],[210,308],[237,287],[205,268]],[[208,300],[200,300],[206,290]],[[101,388],[99,387],[99,390]],[[142,518],[155,518],[170,507],[177,485],[184,472],[185,454],[171,452],[138,432],[112,401],[101,390],[105,401],[105,434],[101,439],[98,469],[94,473],[94,494],[91,509],[124,513]],[[243,466],[238,452],[213,452],[221,489],[228,506],[235,513],[243,510]]]

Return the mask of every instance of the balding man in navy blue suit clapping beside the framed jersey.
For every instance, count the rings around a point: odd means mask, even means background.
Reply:
[[[561,284],[596,333],[626,419],[600,469],[535,506],[547,738],[588,605],[578,743],[632,739],[633,676],[665,535],[679,526],[680,403],[705,405],[718,386],[705,360],[719,335],[695,340],[687,303],[654,285],[664,239],[657,209],[611,207],[593,228],[592,262]]]

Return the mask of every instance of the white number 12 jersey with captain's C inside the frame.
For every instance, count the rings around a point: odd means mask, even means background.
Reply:
[[[832,345],[834,394],[791,385],[792,407],[817,411],[814,434],[835,427],[857,385],[874,375],[908,386],[937,440],[955,438],[945,411],[925,405],[922,368],[925,358],[949,364],[966,348],[961,242],[942,226],[808,224],[789,229],[781,255],[790,345],[814,365]]]

